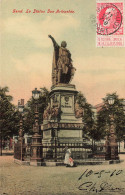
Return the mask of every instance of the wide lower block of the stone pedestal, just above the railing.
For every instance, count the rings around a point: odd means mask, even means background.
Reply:
[[[43,127],[42,143],[54,143],[57,137],[58,143],[80,143],[83,142],[82,123],[53,123],[49,122]],[[67,128],[68,127],[68,128]]]

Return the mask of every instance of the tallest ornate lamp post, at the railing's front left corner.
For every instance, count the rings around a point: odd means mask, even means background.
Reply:
[[[35,88],[32,91],[32,97],[35,100],[35,121],[33,125],[33,136],[31,144],[31,161],[30,165],[41,166],[42,161],[42,136],[40,135],[39,128],[39,113],[38,113],[38,99],[40,91]]]

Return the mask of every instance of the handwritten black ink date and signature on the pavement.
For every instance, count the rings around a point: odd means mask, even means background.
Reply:
[[[86,169],[78,178],[78,181],[82,181],[79,184],[78,189],[83,190],[85,192],[121,192],[124,191],[125,188],[117,186],[113,181],[113,177],[123,177],[123,170],[101,170],[101,171],[93,171]],[[95,178],[92,178],[94,177]],[[106,181],[105,181],[106,176]],[[109,179],[110,178],[110,179]],[[88,181],[88,179],[90,179]],[[100,180],[101,179],[101,180]],[[83,182],[84,180],[84,182]],[[85,181],[87,180],[87,181]],[[108,182],[110,181],[110,182]]]

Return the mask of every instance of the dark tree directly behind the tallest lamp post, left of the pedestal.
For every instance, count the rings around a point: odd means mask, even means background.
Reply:
[[[49,102],[49,91],[44,87],[41,88],[38,100],[39,124],[43,122],[43,113]],[[24,108],[24,133],[32,134],[34,124],[35,100],[31,97]]]

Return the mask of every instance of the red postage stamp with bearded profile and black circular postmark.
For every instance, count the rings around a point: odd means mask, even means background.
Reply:
[[[96,46],[124,47],[124,1],[97,0]]]

